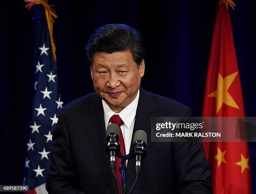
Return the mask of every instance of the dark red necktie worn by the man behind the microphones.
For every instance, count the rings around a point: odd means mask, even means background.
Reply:
[[[125,156],[125,144],[124,144],[124,140],[123,140],[123,133],[121,130],[121,125],[123,125],[123,120],[120,118],[119,115],[115,114],[115,115],[111,116],[110,122],[119,126],[120,137],[119,137],[118,143],[120,144],[120,152]],[[122,184],[122,175],[119,172],[119,167],[120,167],[121,161],[122,161],[122,159],[120,159],[118,157],[115,158],[115,175],[117,176],[118,180],[120,181],[120,184]],[[126,161],[125,161],[125,164],[126,164]],[[120,194],[120,189],[119,189],[117,182],[116,182],[116,185],[118,188],[118,193]]]

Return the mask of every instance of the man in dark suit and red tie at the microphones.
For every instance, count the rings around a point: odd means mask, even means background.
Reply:
[[[121,151],[131,153],[131,140],[146,131],[147,156],[133,194],[211,194],[210,169],[201,143],[151,142],[151,117],[186,119],[188,107],[145,91],[145,49],[140,33],[130,26],[105,25],[87,44],[96,93],[79,98],[59,112],[47,175],[49,194],[118,194],[105,152],[106,128],[121,122]],[[118,173],[115,171],[116,174]],[[129,160],[126,188],[135,179],[135,160]]]

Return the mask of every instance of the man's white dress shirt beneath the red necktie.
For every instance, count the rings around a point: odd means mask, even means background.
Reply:
[[[138,90],[136,98],[128,106],[126,106],[120,113],[115,113],[114,111],[112,111],[111,108],[108,106],[108,104],[102,100],[106,130],[107,130],[107,126],[111,124],[110,117],[113,116],[114,114],[118,114],[120,118],[123,120],[123,125],[121,125],[121,130],[123,133],[126,154],[129,154],[129,151],[130,151],[139,94],[140,94],[140,90]],[[126,161],[126,164],[127,164],[127,161]]]

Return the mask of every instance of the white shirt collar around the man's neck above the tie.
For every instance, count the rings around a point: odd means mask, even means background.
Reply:
[[[102,100],[106,127],[108,126],[109,119],[111,118],[111,116],[113,116],[114,114],[118,114],[120,118],[123,120],[124,124],[128,128],[130,128],[133,119],[135,118],[136,115],[139,95],[140,90],[138,90],[136,98],[128,106],[126,106],[120,113],[115,113],[114,111],[112,111],[108,104],[104,100]]]

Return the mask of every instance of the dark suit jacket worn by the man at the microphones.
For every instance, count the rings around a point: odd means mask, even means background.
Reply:
[[[140,88],[133,134],[139,129],[146,131],[148,145],[133,194],[212,193],[210,169],[201,143],[151,142],[152,116],[190,114],[188,107]],[[96,93],[61,109],[46,181],[49,194],[118,194],[105,152],[105,134],[102,101]],[[127,166],[127,193],[135,175],[133,159]]]

